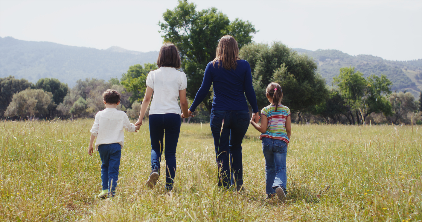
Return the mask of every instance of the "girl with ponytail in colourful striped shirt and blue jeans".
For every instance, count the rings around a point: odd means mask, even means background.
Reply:
[[[292,128],[290,109],[281,104],[283,92],[278,83],[270,83],[265,91],[270,105],[261,111],[261,126],[251,119],[252,126],[261,132],[265,157],[265,190],[267,198],[275,195],[286,198],[286,155]]]

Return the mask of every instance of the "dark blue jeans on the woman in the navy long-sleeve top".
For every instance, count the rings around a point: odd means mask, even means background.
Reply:
[[[214,110],[211,111],[210,120],[217,159],[218,185],[225,188],[230,185],[239,187],[243,185],[242,140],[249,127],[249,111]]]

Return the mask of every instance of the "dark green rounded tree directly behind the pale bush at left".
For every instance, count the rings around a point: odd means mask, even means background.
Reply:
[[[53,94],[53,101],[55,104],[60,104],[69,92],[68,84],[60,83],[55,78],[43,78],[35,83],[34,88],[43,89],[46,92]]]

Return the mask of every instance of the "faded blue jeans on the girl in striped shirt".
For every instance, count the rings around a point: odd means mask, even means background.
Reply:
[[[275,188],[286,189],[287,143],[280,139],[262,137],[262,152],[265,157],[265,190],[267,194],[276,193]]]

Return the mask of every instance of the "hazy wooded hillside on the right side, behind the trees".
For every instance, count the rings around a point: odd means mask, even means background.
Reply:
[[[351,56],[338,50],[310,51],[294,48],[298,53],[306,53],[318,62],[319,72],[331,84],[341,67],[355,67],[365,76],[384,74],[392,83],[392,91],[408,91],[419,97],[422,90],[422,59],[413,61],[390,61],[371,55]]]

